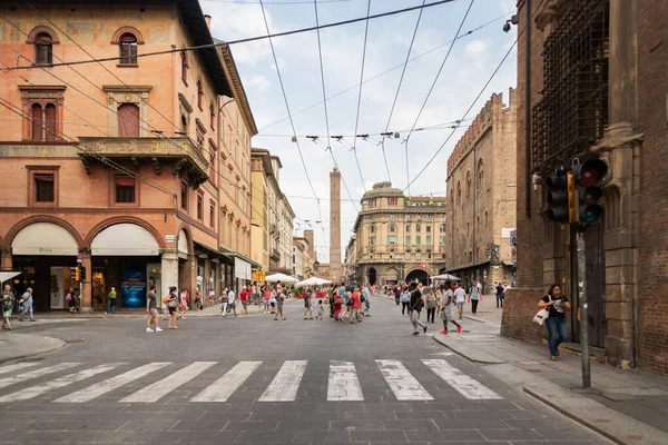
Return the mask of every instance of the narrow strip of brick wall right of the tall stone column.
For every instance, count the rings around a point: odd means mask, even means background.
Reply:
[[[638,2],[640,160],[639,367],[668,375],[668,177],[666,176],[668,4]]]

